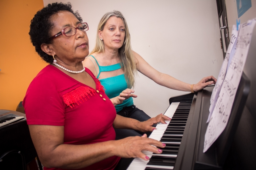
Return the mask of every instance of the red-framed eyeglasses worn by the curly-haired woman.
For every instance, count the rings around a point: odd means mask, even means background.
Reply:
[[[61,36],[61,35],[65,35],[66,37],[75,35],[77,33],[77,29],[79,29],[82,32],[86,32],[89,29],[89,27],[86,22],[79,24],[78,27],[76,27],[76,28],[73,26],[69,26],[67,28],[64,28],[61,32],[56,33],[54,36],[50,37],[50,40],[52,40],[58,36]]]

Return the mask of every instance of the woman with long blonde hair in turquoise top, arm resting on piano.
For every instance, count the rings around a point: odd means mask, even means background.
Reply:
[[[217,81],[209,76],[195,85],[190,85],[155,70],[139,54],[132,51],[128,25],[120,11],[108,12],[101,18],[95,48],[83,64],[100,80],[106,89],[105,93],[115,105],[117,114],[139,121],[146,121],[150,117],[133,105],[132,97],[137,96],[131,94],[134,90],[130,88],[134,86],[137,70],[159,85],[187,92],[197,92]],[[143,135],[134,130],[115,130],[117,139]]]

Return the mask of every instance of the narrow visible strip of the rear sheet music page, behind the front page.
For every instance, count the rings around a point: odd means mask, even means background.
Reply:
[[[227,68],[228,68],[228,65],[229,65],[228,63],[233,58],[234,51],[235,51],[235,46],[236,46],[236,41],[237,41],[237,35],[238,35],[238,31],[236,30],[236,26],[234,25],[233,28],[232,28],[232,35],[231,35],[230,43],[229,43],[228,48],[227,48],[227,53],[226,53],[225,59],[222,63],[221,69],[219,71],[219,76],[217,78],[216,85],[214,86],[214,89],[211,93],[211,99],[210,99],[211,105],[210,105],[210,108],[209,108],[210,114],[208,116],[207,123],[210,121],[213,108],[215,107],[217,98],[219,96],[219,91],[221,89],[223,80],[226,76]]]

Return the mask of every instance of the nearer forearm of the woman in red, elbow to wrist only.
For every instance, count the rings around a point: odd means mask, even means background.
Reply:
[[[111,152],[114,149],[113,142],[85,145],[61,144],[47,155],[39,155],[39,158],[46,167],[80,169],[114,156]]]

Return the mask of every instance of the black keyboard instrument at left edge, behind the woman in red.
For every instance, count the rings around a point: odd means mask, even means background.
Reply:
[[[6,123],[3,120],[12,122],[3,125]],[[26,115],[12,110],[0,110],[0,121],[3,125],[0,127],[0,169],[25,170],[26,165],[37,156]]]

